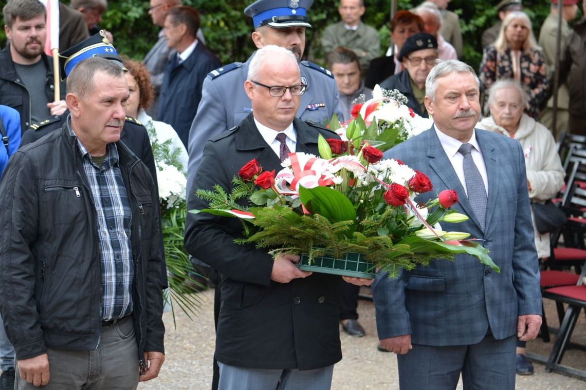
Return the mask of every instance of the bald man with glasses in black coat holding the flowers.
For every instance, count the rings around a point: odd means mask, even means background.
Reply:
[[[318,154],[319,134],[338,138],[295,118],[305,85],[291,51],[272,45],[258,50],[244,89],[254,116],[207,141],[194,191],[219,184],[230,192],[234,175],[253,158],[265,171],[279,170],[287,151]],[[206,207],[207,202],[188,194],[188,209]],[[254,245],[234,243],[243,229],[238,220],[205,213],[187,218],[186,249],[222,275],[219,389],[274,389],[279,382],[281,388],[294,383],[295,388],[329,389],[333,364],[342,358],[340,277],[299,270],[297,255],[272,258]]]

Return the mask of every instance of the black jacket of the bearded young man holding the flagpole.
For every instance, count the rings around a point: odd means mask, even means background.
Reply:
[[[45,93],[49,102],[54,100],[53,61],[45,53],[41,55],[41,61],[45,61],[47,75],[45,78]],[[65,99],[65,82],[59,82],[59,94]],[[12,107],[21,114],[21,131],[24,133],[31,125],[30,122],[30,92],[25,87],[14,68],[14,62],[10,54],[10,44],[0,51],[0,104]]]

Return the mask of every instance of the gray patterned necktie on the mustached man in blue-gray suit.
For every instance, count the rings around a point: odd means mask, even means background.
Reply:
[[[482,231],[486,222],[486,188],[482,176],[472,159],[472,144],[464,143],[458,149],[458,152],[464,156],[464,180],[466,181],[466,192],[468,192],[468,201],[472,206]]]

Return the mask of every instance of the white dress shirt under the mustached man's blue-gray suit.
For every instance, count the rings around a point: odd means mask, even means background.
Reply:
[[[434,126],[435,133],[438,135],[440,139],[440,144],[444,148],[445,154],[448,155],[449,162],[452,163],[452,167],[454,167],[454,171],[456,171],[456,175],[458,175],[458,179],[462,183],[462,187],[464,187],[464,191],[466,191],[466,196],[468,196],[468,189],[466,189],[466,180],[464,179],[464,156],[458,152],[460,146],[463,142],[456,140],[444,134],[438,130],[436,126]],[[486,196],[488,196],[488,176],[486,175],[486,165],[484,164],[484,158],[482,157],[482,151],[480,150],[480,146],[478,145],[478,141],[476,141],[476,130],[472,131],[472,137],[468,140],[469,144],[472,144],[472,160],[474,160],[474,164],[476,164],[476,168],[480,172],[482,176],[482,181],[484,182],[484,188],[486,189]]]

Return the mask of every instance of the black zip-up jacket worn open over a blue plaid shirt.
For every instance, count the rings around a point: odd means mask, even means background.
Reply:
[[[66,126],[19,149],[0,184],[0,310],[19,360],[100,342],[97,213]],[[144,364],[144,351],[164,352],[159,210],[147,167],[116,146],[132,206],[132,316]]]

